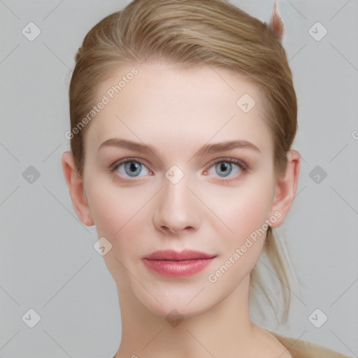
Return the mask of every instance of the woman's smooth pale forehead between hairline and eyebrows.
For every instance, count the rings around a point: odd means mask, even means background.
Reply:
[[[97,88],[100,101],[106,104],[87,130],[88,150],[119,136],[166,148],[242,139],[272,151],[257,85],[224,69],[121,66]]]

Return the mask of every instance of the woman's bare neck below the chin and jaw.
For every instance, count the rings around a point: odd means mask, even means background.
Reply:
[[[249,316],[249,286],[250,275],[215,306],[182,320],[157,315],[118,289],[122,340],[115,358],[253,357],[256,325]]]

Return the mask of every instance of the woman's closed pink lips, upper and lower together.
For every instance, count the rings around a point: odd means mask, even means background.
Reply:
[[[143,263],[151,271],[167,277],[187,277],[202,271],[216,255],[194,250],[161,250],[143,258]]]

